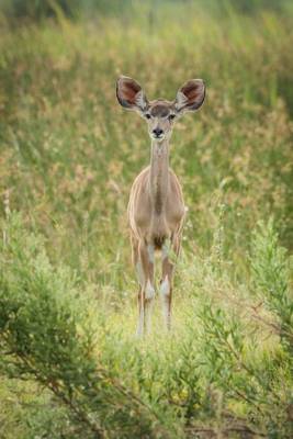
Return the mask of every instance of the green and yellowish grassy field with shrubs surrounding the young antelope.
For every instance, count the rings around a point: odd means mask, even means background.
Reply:
[[[292,4],[57,3],[0,14],[0,438],[292,438]],[[144,339],[126,205],[150,145],[119,75],[207,89],[171,140],[172,330],[157,297]]]

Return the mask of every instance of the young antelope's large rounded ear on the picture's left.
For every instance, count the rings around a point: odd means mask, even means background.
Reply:
[[[119,103],[125,109],[143,112],[147,108],[148,101],[144,90],[138,82],[126,76],[117,79],[116,95]]]

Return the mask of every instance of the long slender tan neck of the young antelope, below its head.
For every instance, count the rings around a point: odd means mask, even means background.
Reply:
[[[161,214],[169,189],[169,140],[151,142],[149,191],[153,212]]]

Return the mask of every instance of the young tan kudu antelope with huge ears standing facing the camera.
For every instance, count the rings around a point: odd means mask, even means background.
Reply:
[[[161,252],[159,290],[165,323],[170,329],[174,269],[171,252],[178,256],[180,250],[185,206],[179,180],[169,168],[169,140],[176,121],[203,104],[205,87],[202,79],[191,79],[178,90],[174,101],[148,101],[138,82],[122,76],[117,79],[116,95],[122,106],[145,119],[151,139],[150,165],[134,180],[127,210],[133,263],[139,282],[137,334],[140,336],[145,329],[150,330],[156,250]]]

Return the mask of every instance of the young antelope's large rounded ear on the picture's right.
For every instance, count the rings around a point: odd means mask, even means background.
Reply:
[[[202,79],[190,79],[177,92],[174,108],[179,113],[196,111],[203,104],[205,86]]]

